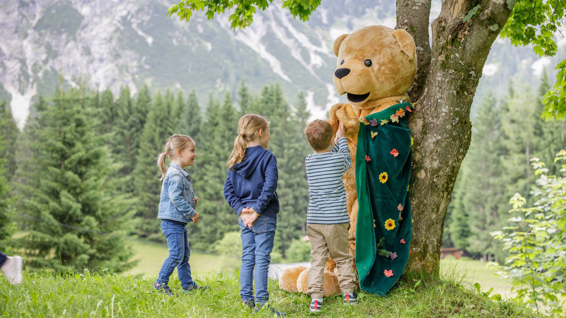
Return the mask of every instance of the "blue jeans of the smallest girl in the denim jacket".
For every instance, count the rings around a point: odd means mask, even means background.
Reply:
[[[194,282],[191,277],[191,266],[188,265],[191,250],[188,247],[187,225],[177,221],[161,220],[161,231],[167,239],[169,256],[161,266],[155,287],[168,285],[169,276],[173,274],[173,270],[177,267],[181,286],[183,289],[190,289]],[[158,283],[161,285],[158,286]]]

